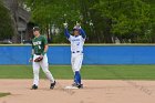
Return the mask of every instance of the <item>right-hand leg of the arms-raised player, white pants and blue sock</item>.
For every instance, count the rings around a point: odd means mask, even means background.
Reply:
[[[81,84],[81,65],[82,65],[82,61],[83,61],[83,54],[78,54],[75,58],[75,63],[74,63],[74,71],[75,71],[75,83],[76,84]]]

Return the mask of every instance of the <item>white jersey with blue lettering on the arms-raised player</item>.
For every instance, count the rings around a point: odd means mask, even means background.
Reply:
[[[70,35],[69,41],[71,42],[72,52],[83,52],[83,44],[85,39],[82,35]]]

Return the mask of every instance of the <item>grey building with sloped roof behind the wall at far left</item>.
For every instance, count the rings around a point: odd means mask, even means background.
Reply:
[[[23,40],[29,39],[28,23],[30,21],[30,12],[19,0],[2,0],[4,7],[10,11],[11,19],[14,25],[13,43],[22,43]]]

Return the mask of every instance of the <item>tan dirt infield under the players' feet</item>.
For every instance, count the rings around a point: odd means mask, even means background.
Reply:
[[[71,80],[58,80],[54,90],[41,80],[39,90],[30,90],[32,80],[0,80],[0,103],[155,103],[155,81],[84,80],[84,89],[64,90]]]

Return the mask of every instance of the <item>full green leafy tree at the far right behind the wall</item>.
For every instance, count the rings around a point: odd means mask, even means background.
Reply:
[[[111,34],[122,42],[145,35],[151,23],[151,7],[141,0],[100,0],[95,8],[110,20]]]

